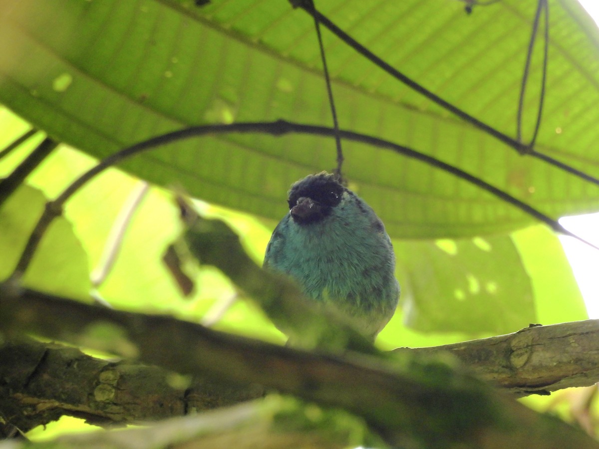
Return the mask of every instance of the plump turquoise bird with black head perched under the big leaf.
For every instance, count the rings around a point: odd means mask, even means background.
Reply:
[[[294,183],[288,205],[268,242],[264,268],[288,275],[309,301],[332,308],[374,341],[400,296],[383,222],[328,172]]]

